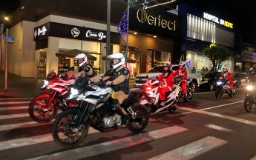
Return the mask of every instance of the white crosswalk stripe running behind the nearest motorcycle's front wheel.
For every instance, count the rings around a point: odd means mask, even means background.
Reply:
[[[88,134],[98,133],[98,132],[99,130],[95,130],[93,129],[93,127],[89,127]],[[27,146],[32,144],[39,144],[47,141],[53,141],[52,133],[40,135],[40,136],[32,136],[32,137],[27,137],[22,139],[13,139],[10,141],[1,141],[0,150],[8,150],[11,148],[22,147],[22,146]]]

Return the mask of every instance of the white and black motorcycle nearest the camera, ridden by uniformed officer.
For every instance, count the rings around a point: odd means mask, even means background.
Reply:
[[[116,93],[102,79],[112,75],[113,70],[108,70],[94,84],[87,77],[75,81],[67,101],[79,101],[79,107],[68,107],[53,123],[53,139],[59,146],[74,147],[80,144],[88,135],[89,125],[100,132],[119,127],[128,127],[128,130],[135,133],[145,129],[149,113],[144,105],[138,103],[145,95],[140,88],[129,90],[128,98],[120,104],[131,117],[126,126],[122,126],[121,116],[111,110],[110,105]]]

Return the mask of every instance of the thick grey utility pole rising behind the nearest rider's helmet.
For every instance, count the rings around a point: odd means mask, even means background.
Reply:
[[[111,0],[108,0],[108,13],[107,13],[107,50],[106,50],[106,61],[105,71],[108,70],[108,56],[111,53]]]

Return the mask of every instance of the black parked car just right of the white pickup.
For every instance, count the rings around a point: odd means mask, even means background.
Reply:
[[[202,83],[200,84],[200,88],[206,88],[210,91],[216,89],[216,81],[220,78],[222,73],[220,72],[208,72],[203,73],[202,75]],[[217,79],[215,79],[217,77]]]

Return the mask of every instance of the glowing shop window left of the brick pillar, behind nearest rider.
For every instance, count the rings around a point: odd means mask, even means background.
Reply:
[[[122,53],[126,56],[126,46],[122,46]],[[128,57],[136,60],[135,63],[127,63],[128,70],[130,71],[131,78],[137,76],[140,73],[140,47],[128,47]]]

